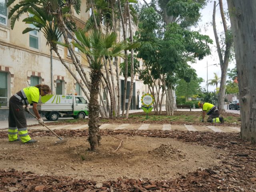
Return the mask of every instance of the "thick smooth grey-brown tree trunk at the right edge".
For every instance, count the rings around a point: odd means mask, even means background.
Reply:
[[[256,143],[256,1],[228,0],[238,70],[242,139]]]

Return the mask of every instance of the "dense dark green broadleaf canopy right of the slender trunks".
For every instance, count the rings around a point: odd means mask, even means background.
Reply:
[[[141,42],[136,50],[137,56],[144,60],[147,67],[142,74],[149,74],[154,79],[164,76],[167,86],[174,86],[181,78],[190,82],[196,77],[196,72],[187,62],[201,60],[210,54],[209,44],[212,44],[212,40],[177,23],[171,23],[165,29],[159,28],[163,27],[161,23],[153,8],[142,8],[136,33],[136,40]]]

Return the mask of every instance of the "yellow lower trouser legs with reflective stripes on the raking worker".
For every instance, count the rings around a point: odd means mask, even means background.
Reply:
[[[25,143],[31,140],[30,136],[28,135],[28,128],[20,128],[20,129],[17,129],[17,127],[8,128],[9,141],[16,140],[18,138],[18,134],[20,136],[20,140],[22,141],[22,143]]]

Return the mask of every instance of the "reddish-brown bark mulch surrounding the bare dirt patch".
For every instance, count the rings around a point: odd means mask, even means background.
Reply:
[[[88,130],[56,130],[64,138],[88,135]],[[0,170],[0,192],[254,192],[256,191],[256,146],[244,142],[238,133],[182,132],[162,130],[100,130],[101,135],[125,134],[158,138],[176,138],[194,145],[207,145],[223,150],[222,162],[205,170],[198,169],[172,180],[118,179],[96,183],[65,176],[40,176],[32,172]],[[31,136],[51,135],[47,131]],[[6,133],[0,132],[0,138]]]

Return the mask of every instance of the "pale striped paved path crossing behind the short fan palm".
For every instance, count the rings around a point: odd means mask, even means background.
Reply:
[[[88,129],[88,124],[70,124],[70,125],[50,125],[52,130],[83,130]],[[28,130],[47,130],[42,126],[29,127]],[[195,132],[240,132],[240,127],[228,126],[202,126],[202,125],[171,125],[171,124],[101,124],[100,129],[110,130],[181,130]],[[4,130],[2,130],[4,131]],[[6,131],[6,130],[5,130]]]

